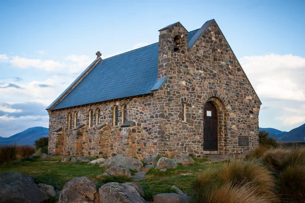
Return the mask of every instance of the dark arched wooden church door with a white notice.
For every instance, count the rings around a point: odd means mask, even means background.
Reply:
[[[203,150],[218,150],[218,118],[217,109],[209,101],[204,105],[203,116]]]

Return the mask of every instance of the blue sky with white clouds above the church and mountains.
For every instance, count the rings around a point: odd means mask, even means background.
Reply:
[[[259,95],[260,127],[305,123],[305,1],[0,0],[0,136],[48,127],[45,110],[101,51],[153,44],[158,30],[215,19]]]

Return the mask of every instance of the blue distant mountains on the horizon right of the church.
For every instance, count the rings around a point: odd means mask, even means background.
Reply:
[[[305,141],[305,123],[289,132],[281,131],[275,128],[259,128],[259,131],[265,130],[269,132],[270,138],[276,138],[277,141],[296,142]]]

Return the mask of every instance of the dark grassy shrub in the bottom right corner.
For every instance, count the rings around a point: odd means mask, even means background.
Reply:
[[[279,175],[279,194],[283,201],[304,202],[305,165],[290,165]]]

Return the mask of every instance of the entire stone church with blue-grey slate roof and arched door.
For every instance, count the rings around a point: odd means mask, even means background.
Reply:
[[[166,152],[244,156],[261,101],[214,19],[97,59],[47,108],[49,153],[139,159]]]

